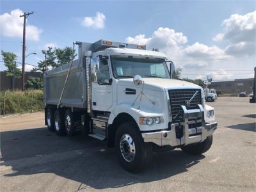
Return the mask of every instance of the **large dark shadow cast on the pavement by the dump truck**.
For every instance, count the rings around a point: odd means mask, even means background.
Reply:
[[[118,164],[113,148],[93,138],[56,136],[47,128],[1,132],[1,163],[12,173],[31,175],[54,173],[80,182],[77,189],[119,188],[136,183],[166,179],[197,164],[204,156],[189,156],[181,150],[154,154],[152,164],[142,173],[126,172]],[[84,186],[86,185],[86,186]]]

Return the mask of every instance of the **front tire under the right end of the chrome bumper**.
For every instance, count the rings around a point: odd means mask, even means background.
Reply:
[[[181,147],[181,149],[187,154],[196,156],[196,155],[204,154],[205,152],[207,152],[207,150],[211,148],[211,145],[212,145],[212,135],[208,136],[206,140],[204,140],[202,143],[186,145],[184,147]]]

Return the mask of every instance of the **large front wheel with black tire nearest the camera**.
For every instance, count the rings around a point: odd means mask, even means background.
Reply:
[[[120,165],[128,172],[145,170],[152,160],[152,143],[144,143],[133,122],[126,122],[118,127],[115,150]]]

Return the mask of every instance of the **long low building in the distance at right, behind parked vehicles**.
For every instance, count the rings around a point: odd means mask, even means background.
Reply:
[[[209,84],[208,88],[214,88],[216,92],[220,93],[251,93],[253,92],[253,78],[212,82]]]

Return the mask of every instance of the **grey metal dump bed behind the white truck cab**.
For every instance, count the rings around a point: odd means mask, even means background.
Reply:
[[[45,73],[45,106],[58,105],[70,65],[68,63]],[[86,108],[85,69],[80,60],[73,61],[60,106]]]

